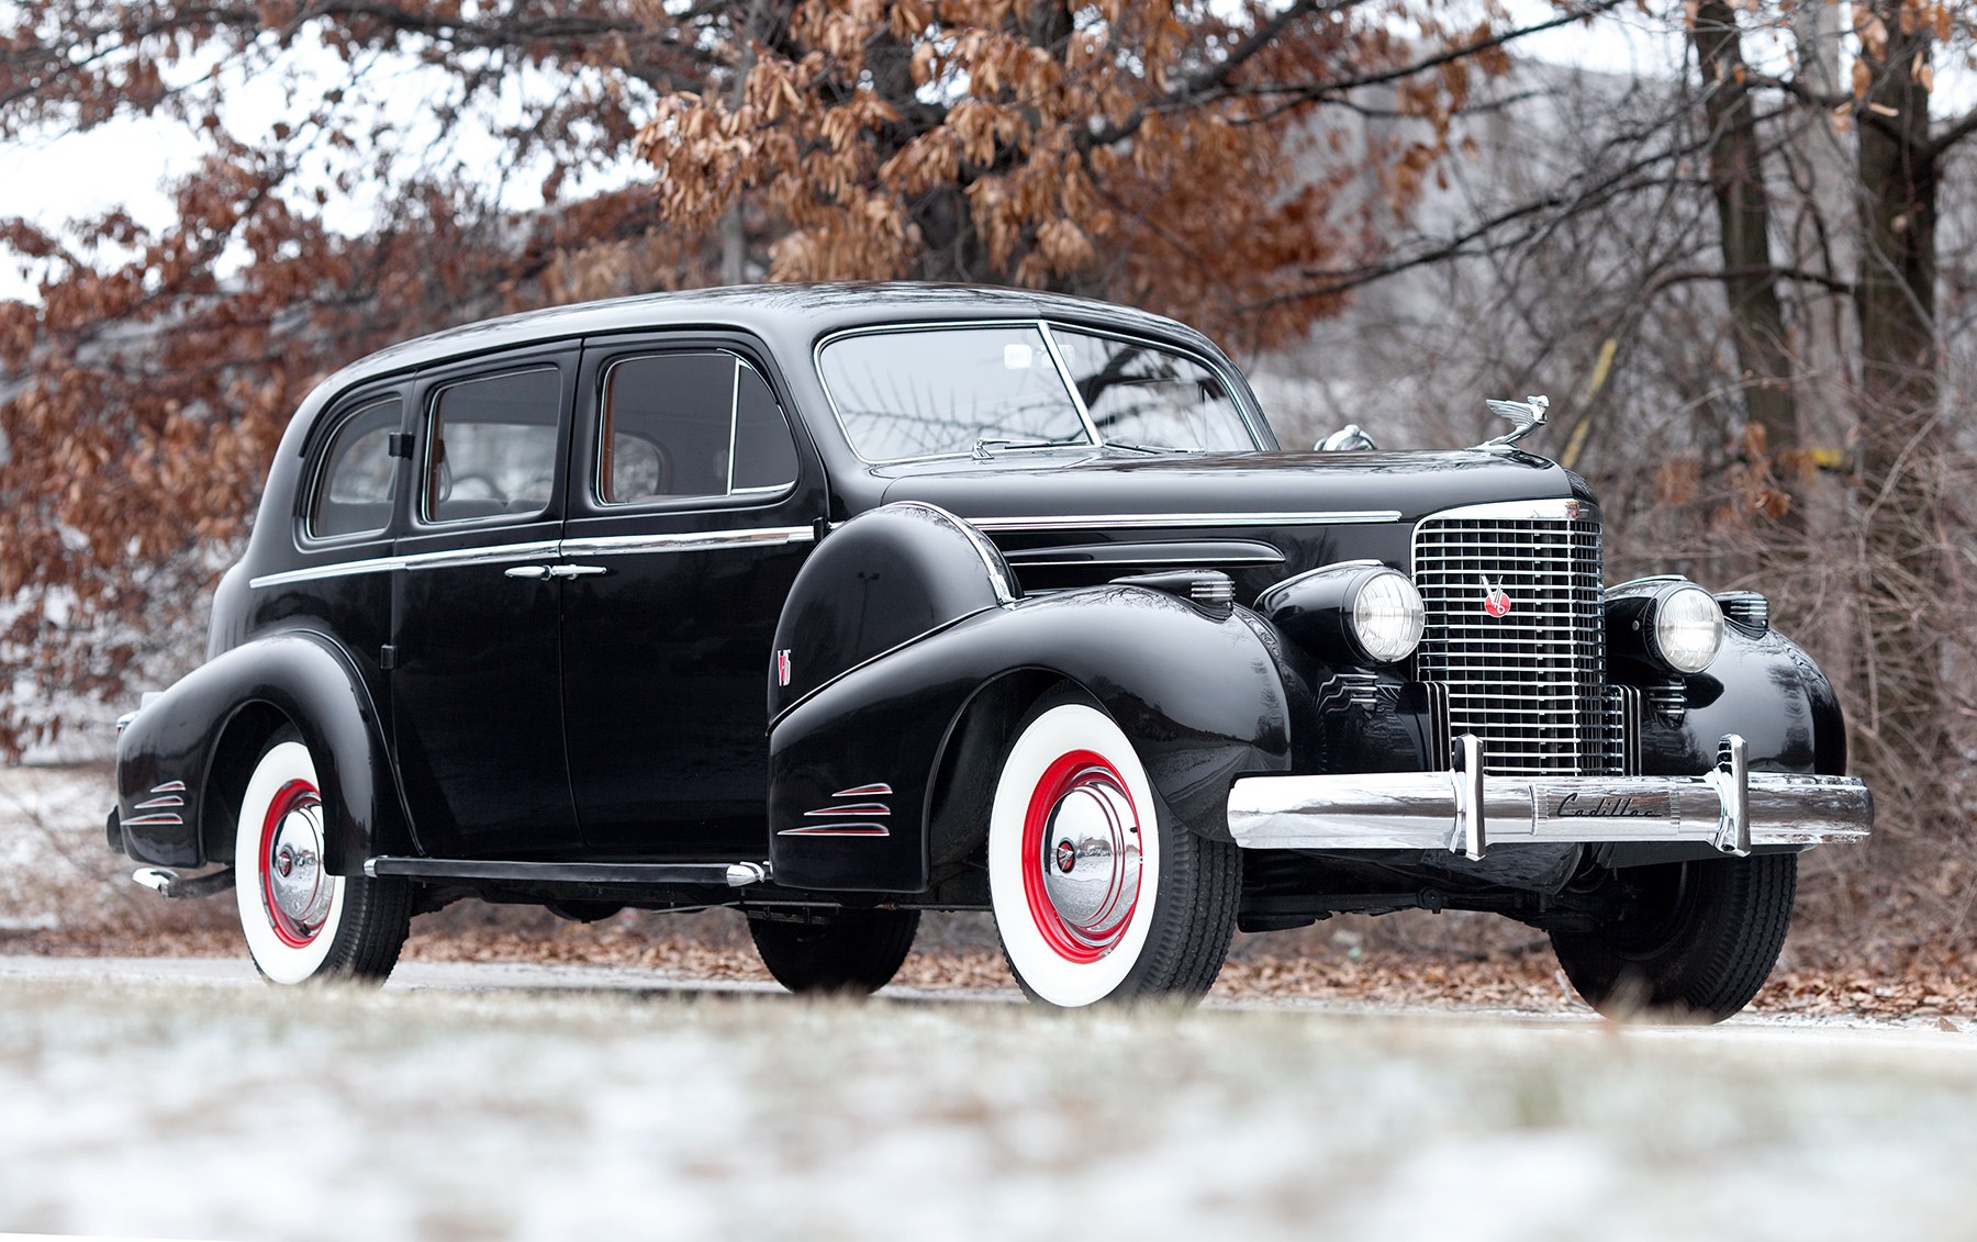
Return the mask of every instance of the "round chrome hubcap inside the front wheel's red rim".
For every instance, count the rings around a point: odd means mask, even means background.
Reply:
[[[1044,896],[1064,930],[1103,945],[1139,898],[1139,819],[1109,773],[1079,773],[1044,829]]]

